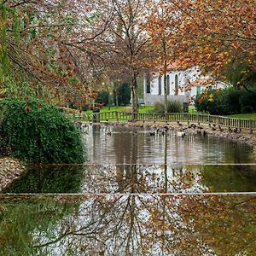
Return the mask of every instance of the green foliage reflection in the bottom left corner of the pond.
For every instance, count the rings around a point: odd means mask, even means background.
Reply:
[[[77,208],[76,203],[58,203],[45,196],[36,200],[17,195],[9,195],[0,201],[0,255],[44,255],[39,247],[41,236],[50,230],[61,218]],[[37,233],[34,236],[33,233]]]

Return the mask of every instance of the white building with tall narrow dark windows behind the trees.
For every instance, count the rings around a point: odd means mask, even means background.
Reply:
[[[147,73],[144,76],[144,102],[151,105],[154,102],[164,101],[164,76],[158,72]],[[192,67],[189,69],[177,68],[173,63],[168,67],[167,98],[178,102],[191,102],[195,96],[201,94],[206,87],[224,88],[226,84],[216,82],[209,76],[202,76],[201,71]]]

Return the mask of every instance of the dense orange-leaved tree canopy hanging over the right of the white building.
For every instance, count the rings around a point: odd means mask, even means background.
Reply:
[[[247,1],[177,1],[167,12],[181,20],[168,38],[183,67],[199,66],[204,73],[227,79],[226,73],[240,73],[236,84],[245,86],[255,73],[255,3]],[[173,16],[170,17],[173,20]],[[166,20],[161,27],[166,27]],[[239,67],[239,68],[238,68]]]

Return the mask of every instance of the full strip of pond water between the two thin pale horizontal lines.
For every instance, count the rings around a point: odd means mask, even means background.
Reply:
[[[256,166],[30,166],[4,193],[256,191]]]

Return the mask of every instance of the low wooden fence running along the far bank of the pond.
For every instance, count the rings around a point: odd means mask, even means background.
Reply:
[[[223,116],[216,116],[201,113],[129,113],[119,111],[109,111],[102,113],[67,113],[67,116],[73,120],[91,122],[95,118],[100,121],[153,121],[153,122],[193,122],[195,124],[219,125],[237,129],[248,129],[253,131],[256,128],[256,120],[234,119]]]

